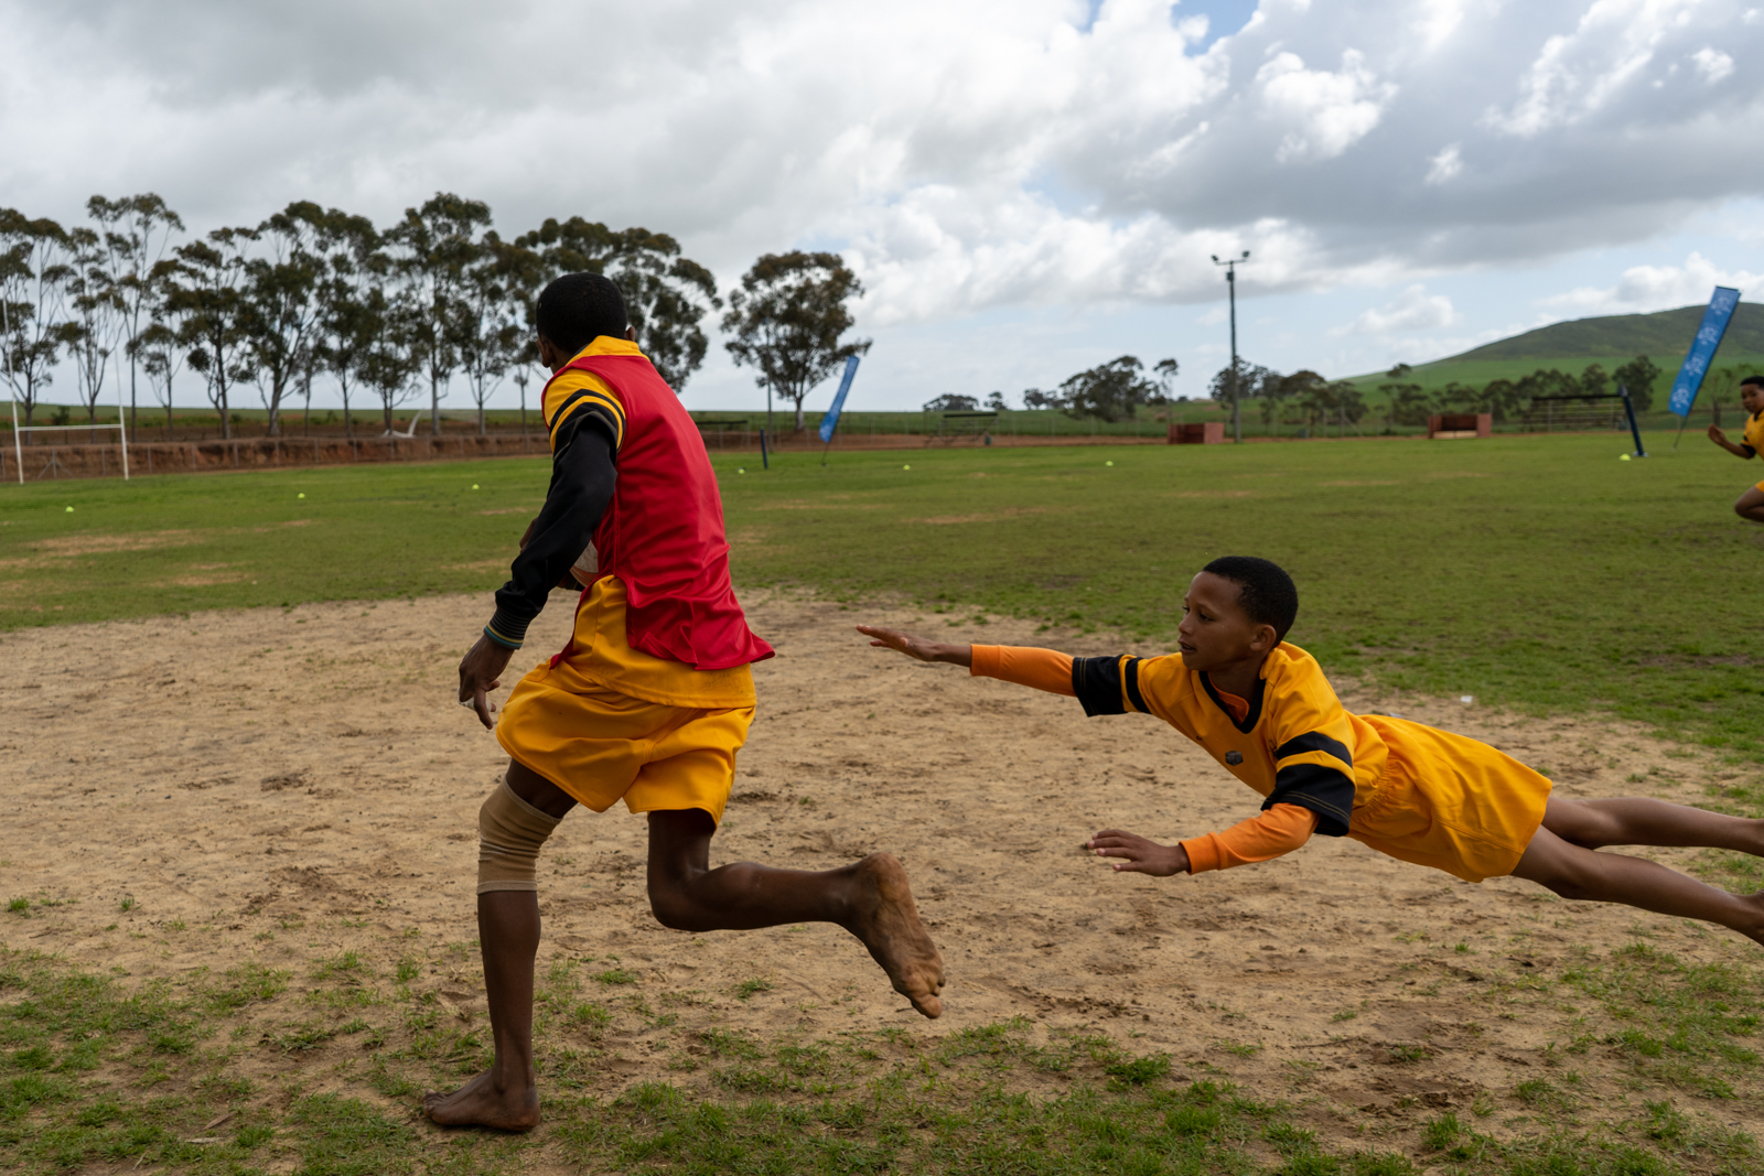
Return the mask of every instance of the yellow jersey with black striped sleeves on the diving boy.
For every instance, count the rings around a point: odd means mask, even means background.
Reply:
[[[1231,696],[1180,654],[1074,658],[1073,693],[1085,714],[1161,718],[1261,793],[1263,809],[1311,809],[1328,837],[1348,834],[1355,799],[1369,797],[1385,776],[1385,741],[1341,705],[1316,659],[1288,642],[1263,659],[1242,718],[1233,716]]]

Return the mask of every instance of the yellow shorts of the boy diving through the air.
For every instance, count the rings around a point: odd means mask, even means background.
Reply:
[[[1544,823],[1549,778],[1468,735],[1364,718],[1385,737],[1390,765],[1355,806],[1348,836],[1464,882],[1514,873]]]

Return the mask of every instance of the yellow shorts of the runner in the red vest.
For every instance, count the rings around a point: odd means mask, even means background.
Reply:
[[[605,813],[704,809],[718,823],[753,707],[706,711],[612,689],[559,689],[542,663],[515,684],[496,739],[517,763]]]

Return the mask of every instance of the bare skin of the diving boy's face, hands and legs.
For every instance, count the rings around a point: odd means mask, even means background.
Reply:
[[[1238,585],[1200,573],[1182,601],[1177,644],[1182,665],[1203,670],[1221,691],[1247,698],[1261,677],[1261,663],[1281,644],[1274,626],[1256,622],[1240,605]],[[972,666],[972,645],[928,642],[910,633],[857,626],[871,645],[894,649],[919,661]],[[1611,845],[1708,846],[1764,857],[1764,820],[1706,813],[1646,797],[1570,800],[1551,797],[1544,823],[1533,834],[1515,878],[1526,878],[1566,899],[1625,903],[1662,915],[1700,919],[1764,943],[1764,892],[1729,894],[1658,862],[1621,853],[1596,853]],[[1104,829],[1085,843],[1122,873],[1168,878],[1189,873],[1180,845],[1159,845],[1124,829]]]

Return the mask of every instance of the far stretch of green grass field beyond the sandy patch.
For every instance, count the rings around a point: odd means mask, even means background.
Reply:
[[[1603,711],[1757,758],[1764,531],[1729,502],[1759,471],[1695,435],[1648,443],[1630,462],[1614,435],[1556,435],[718,469],[746,585],[1155,644],[1196,568],[1252,552],[1293,571],[1291,638],[1335,674]],[[545,480],[542,460],[499,460],[4,487],[0,628],[489,592]]]

